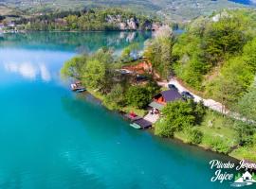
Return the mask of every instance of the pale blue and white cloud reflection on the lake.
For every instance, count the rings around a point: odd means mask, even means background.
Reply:
[[[0,77],[2,80],[58,80],[60,69],[65,60],[74,53],[46,50],[20,50],[0,48]]]

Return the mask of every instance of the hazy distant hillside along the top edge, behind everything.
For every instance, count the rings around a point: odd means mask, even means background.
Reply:
[[[187,22],[199,15],[210,15],[220,9],[244,7],[228,0],[0,0],[0,4],[32,12],[83,9],[95,7],[123,7],[138,13],[147,12],[175,22]]]

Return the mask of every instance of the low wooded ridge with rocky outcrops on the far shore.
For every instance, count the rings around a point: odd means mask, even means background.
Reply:
[[[82,9],[60,11],[16,22],[27,30],[154,30],[160,26],[156,18],[135,14],[122,9]]]

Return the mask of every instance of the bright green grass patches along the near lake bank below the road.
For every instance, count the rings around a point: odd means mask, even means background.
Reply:
[[[97,93],[95,92],[95,90],[92,89],[88,89],[87,92],[91,94],[93,97],[100,100],[102,106],[104,106],[109,111],[116,111],[122,115],[123,112],[136,112],[139,116],[144,116],[146,114],[145,110],[135,109],[133,107],[124,107],[115,110],[113,109],[113,107],[103,103],[105,98],[104,95]],[[234,130],[231,129],[232,124],[234,124],[234,122],[231,118],[224,117],[218,112],[208,111],[202,124],[198,127],[204,133],[204,137],[201,144],[191,144],[188,140],[188,136],[185,133],[185,131],[175,132],[173,139],[183,143],[184,145],[197,146],[204,150],[210,150],[215,153],[220,153],[219,150],[223,150],[223,148],[226,148],[225,150],[230,149],[228,153],[222,152],[220,154],[224,154],[238,161],[246,160],[250,162],[256,162],[256,150],[253,150],[254,148],[252,148],[252,150],[248,150],[248,148],[246,147],[238,146],[238,143],[235,141],[236,133]],[[148,131],[155,135],[155,127],[149,129]],[[216,137],[222,138],[222,141],[219,141],[219,145],[217,146],[212,141],[212,139]],[[166,140],[170,139],[166,138]]]

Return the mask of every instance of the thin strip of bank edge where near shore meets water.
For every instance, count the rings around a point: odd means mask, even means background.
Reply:
[[[91,90],[86,90],[85,93],[91,95],[93,98],[95,98],[96,100],[98,100],[98,101],[101,103],[101,106],[102,106],[104,109],[106,109],[106,110],[109,111],[109,112],[117,112],[117,113],[121,116],[121,118],[122,118],[124,121],[126,121],[127,123],[129,123],[129,121],[127,121],[127,119],[125,119],[125,117],[123,116],[125,112],[111,110],[109,107],[107,107],[107,106],[105,106],[105,105],[103,104],[102,99],[101,99],[101,96],[95,94],[94,92],[91,92]],[[126,112],[126,113],[127,113],[127,112]],[[154,136],[154,137],[159,137],[159,136],[155,135],[155,133],[154,133],[154,127],[152,127],[151,129],[147,129],[147,130],[145,130],[145,131],[148,131],[148,132],[149,132],[150,134],[152,134],[152,136]],[[198,147],[198,148],[200,148],[200,149],[202,149],[202,150],[204,150],[204,151],[210,151],[210,152],[212,152],[212,153],[220,154],[220,155],[223,155],[223,156],[225,156],[225,157],[231,158],[231,159],[233,159],[233,160],[235,160],[235,161],[237,161],[237,162],[240,162],[240,161],[242,161],[242,160],[245,160],[246,162],[254,163],[253,161],[249,161],[249,160],[246,160],[246,159],[239,159],[238,157],[230,156],[229,154],[219,153],[219,152],[217,152],[217,151],[212,150],[210,147],[202,146],[202,145],[200,145],[200,144],[199,144],[199,145],[194,145],[194,144],[186,143],[182,138],[177,137],[177,136],[175,136],[175,135],[174,135],[173,138],[163,138],[163,137],[159,137],[159,138],[160,138],[160,139],[164,139],[164,140],[168,140],[168,141],[174,140],[174,141],[176,141],[176,142],[178,142],[178,143],[181,143],[182,145],[186,145],[186,146],[195,146],[195,147]]]

